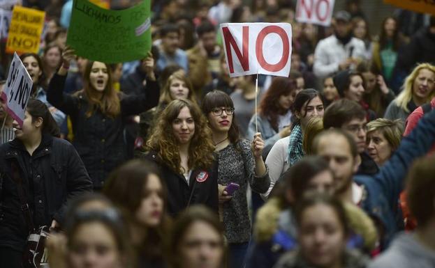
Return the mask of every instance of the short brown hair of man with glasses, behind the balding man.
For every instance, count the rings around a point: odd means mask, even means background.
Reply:
[[[345,123],[357,118],[363,119],[367,116],[364,108],[353,100],[341,99],[332,102],[323,113],[323,127],[325,129],[341,128]]]

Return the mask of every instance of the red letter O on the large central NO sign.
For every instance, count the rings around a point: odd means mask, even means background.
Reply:
[[[265,56],[263,55],[263,41],[265,37],[269,33],[277,33],[281,40],[283,41],[283,55],[281,60],[275,64],[269,64],[265,60]],[[263,30],[258,33],[257,42],[256,42],[256,54],[258,63],[260,63],[261,67],[269,72],[277,72],[286,66],[288,61],[288,55],[290,54],[290,47],[288,42],[288,36],[286,31],[279,26],[267,26]]]

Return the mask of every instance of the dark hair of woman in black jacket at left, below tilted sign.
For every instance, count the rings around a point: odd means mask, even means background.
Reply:
[[[43,128],[41,130],[42,133],[50,134],[59,138],[59,126],[57,125],[56,121],[54,121],[54,118],[48,110],[47,105],[40,100],[29,99],[26,111],[31,115],[32,122],[34,122],[34,120],[36,120],[38,117],[43,118]]]

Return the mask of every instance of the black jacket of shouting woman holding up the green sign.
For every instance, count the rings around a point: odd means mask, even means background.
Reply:
[[[127,158],[124,127],[128,116],[157,105],[160,95],[157,82],[148,81],[146,95],[120,95],[121,113],[116,118],[110,118],[101,111],[87,117],[89,105],[85,95],[63,93],[65,79],[66,76],[54,74],[47,90],[47,100],[71,117],[73,145],[87,168],[94,189],[101,189],[110,171]]]

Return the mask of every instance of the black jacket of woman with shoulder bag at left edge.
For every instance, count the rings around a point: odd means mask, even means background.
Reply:
[[[84,164],[73,145],[43,135],[39,147],[29,155],[18,139],[0,145],[0,246],[22,251],[29,226],[20,209],[17,182],[11,164],[20,171],[24,198],[29,204],[34,226],[50,226],[64,221],[66,202],[92,190]],[[0,179],[1,180],[1,179]]]

